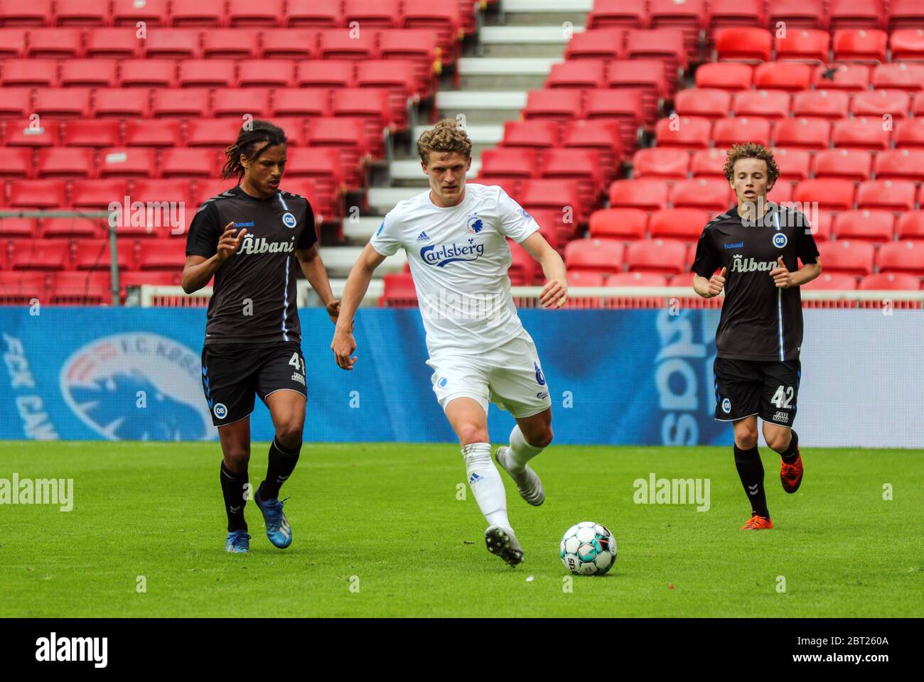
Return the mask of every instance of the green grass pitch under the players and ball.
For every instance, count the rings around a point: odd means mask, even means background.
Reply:
[[[253,445],[251,483],[266,450]],[[267,541],[251,502],[250,554],[233,555],[216,444],[4,442],[0,479],[73,478],[74,509],[0,505],[0,615],[924,612],[924,450],[808,448],[794,495],[780,486],[779,457],[761,455],[775,528],[743,532],[749,508],[729,447],[553,445],[535,467],[545,505],[524,503],[502,473],[526,553],[511,569],[485,551],[468,488],[456,499],[465,468],[454,445],[306,444],[282,495],[292,546]],[[710,479],[711,508],[635,504],[633,481],[651,472]],[[618,560],[568,591],[558,542],[583,520],[613,530]]]

